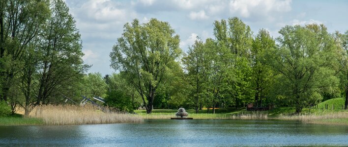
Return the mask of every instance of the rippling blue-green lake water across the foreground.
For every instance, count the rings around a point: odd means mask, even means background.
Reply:
[[[348,126],[241,120],[0,126],[0,146],[348,146]]]

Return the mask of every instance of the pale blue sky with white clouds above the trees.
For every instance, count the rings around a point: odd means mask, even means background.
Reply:
[[[82,39],[88,73],[103,75],[110,68],[110,52],[121,37],[123,25],[151,18],[168,22],[187,51],[197,36],[214,38],[213,23],[240,18],[258,33],[261,28],[274,38],[285,25],[324,24],[329,32],[348,30],[348,0],[64,0]]]

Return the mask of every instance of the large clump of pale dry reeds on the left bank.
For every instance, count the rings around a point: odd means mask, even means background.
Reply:
[[[104,113],[91,105],[42,105],[35,107],[29,116],[40,118],[47,125],[143,122],[137,115]]]

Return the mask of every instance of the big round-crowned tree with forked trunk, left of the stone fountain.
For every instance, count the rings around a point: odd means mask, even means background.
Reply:
[[[166,80],[167,68],[181,54],[179,42],[168,23],[151,19],[140,24],[135,19],[124,25],[123,34],[110,53],[111,67],[126,73],[142,97],[146,113],[152,111],[156,89]]]

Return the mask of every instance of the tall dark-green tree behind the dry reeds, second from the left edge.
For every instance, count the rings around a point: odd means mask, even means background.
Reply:
[[[68,6],[63,0],[51,0],[50,9],[50,18],[39,36],[41,58],[36,105],[67,93],[88,68],[83,64],[81,36]]]

